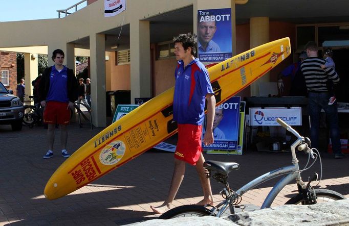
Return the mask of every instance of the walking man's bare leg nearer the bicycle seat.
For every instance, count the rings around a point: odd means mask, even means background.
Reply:
[[[204,191],[204,199],[202,199],[197,205],[205,206],[206,204],[213,204],[213,195],[211,190],[210,179],[206,177],[204,168],[205,158],[201,153],[199,161],[197,162],[197,172],[199,174],[202,190]]]

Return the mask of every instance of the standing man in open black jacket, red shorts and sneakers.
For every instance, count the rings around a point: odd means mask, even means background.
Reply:
[[[48,124],[48,152],[44,159],[53,157],[53,142],[55,125],[60,126],[61,155],[68,158],[67,125],[70,122],[71,110],[78,98],[77,81],[73,70],[63,65],[64,53],[56,49],[52,54],[55,64],[45,69],[39,84],[40,104],[45,108],[43,122]]]

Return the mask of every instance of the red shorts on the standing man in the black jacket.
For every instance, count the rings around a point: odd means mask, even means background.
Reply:
[[[49,101],[43,110],[43,122],[49,124],[67,125],[70,121],[68,103]]]

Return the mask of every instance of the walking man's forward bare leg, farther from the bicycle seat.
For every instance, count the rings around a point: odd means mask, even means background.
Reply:
[[[171,203],[173,202],[174,197],[176,197],[178,189],[181,186],[181,183],[183,181],[184,173],[185,173],[185,162],[178,159],[174,159],[174,170],[173,170],[172,181],[171,181],[170,189],[168,191],[167,199],[162,205],[158,207],[150,206],[152,211],[154,211],[157,214],[162,214],[171,208]]]

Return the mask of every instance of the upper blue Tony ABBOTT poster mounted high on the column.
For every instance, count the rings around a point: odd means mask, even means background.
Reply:
[[[231,9],[198,10],[198,56],[201,62],[232,57]]]

